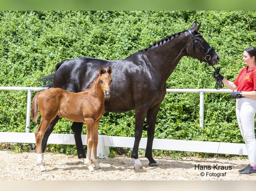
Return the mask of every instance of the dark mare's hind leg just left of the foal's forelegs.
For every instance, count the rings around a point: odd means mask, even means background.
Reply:
[[[81,138],[83,124],[84,123],[81,123],[81,122],[73,122],[71,129],[73,130],[74,137],[75,137],[78,158],[82,158],[85,164],[86,155],[85,155],[85,150],[84,150],[84,146]]]

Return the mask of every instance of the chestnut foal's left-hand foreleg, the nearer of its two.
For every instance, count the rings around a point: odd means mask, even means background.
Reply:
[[[93,148],[93,128],[94,128],[94,119],[86,119],[86,131],[87,131],[87,157],[85,160],[85,164],[87,168],[90,170],[90,172],[94,171],[94,168],[92,166],[91,162],[91,153]]]

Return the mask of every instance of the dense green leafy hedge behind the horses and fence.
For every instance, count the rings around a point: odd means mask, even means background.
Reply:
[[[52,74],[63,60],[126,58],[191,28],[195,20],[202,23],[199,32],[221,57],[221,74],[233,81],[244,67],[243,50],[256,46],[255,11],[0,11],[0,86],[39,87],[37,80]],[[215,81],[205,73],[204,63],[183,57],[166,85],[214,89]],[[0,91],[0,131],[25,132],[26,94]],[[225,123],[229,101],[228,94],[205,94],[201,128],[199,94],[167,93],[157,116],[155,138],[243,143],[234,101]],[[70,126],[70,121],[61,119],[53,133],[72,133]],[[38,124],[31,121],[30,127],[34,132]],[[105,113],[99,134],[134,136],[134,111]]]

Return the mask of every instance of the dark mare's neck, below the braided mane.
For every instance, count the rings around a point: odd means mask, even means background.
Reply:
[[[185,34],[182,33],[168,42],[142,52],[149,60],[148,63],[159,81],[165,83],[180,59],[187,56],[186,38]]]

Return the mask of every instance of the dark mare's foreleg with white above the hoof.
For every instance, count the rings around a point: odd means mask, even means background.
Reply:
[[[135,164],[133,165],[133,168],[135,170],[142,169],[142,164],[139,161],[139,157],[138,157],[138,149],[139,149],[140,139],[142,136],[142,129],[143,129],[146,112],[147,112],[147,107],[143,105],[135,108],[135,130],[134,130],[135,140],[134,140],[132,156],[131,156],[135,162]]]

